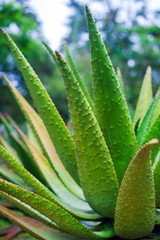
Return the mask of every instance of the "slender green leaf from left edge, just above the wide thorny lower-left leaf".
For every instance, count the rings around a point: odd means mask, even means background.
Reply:
[[[13,171],[21,177],[24,182],[30,186],[37,194],[47,198],[57,206],[68,209],[73,215],[82,219],[98,219],[100,216],[95,214],[94,211],[88,206],[87,203],[81,201],[81,208],[74,208],[46,188],[41,182],[39,182],[33,175],[31,175],[22,165],[20,165],[2,146],[0,146],[0,157],[8,164]],[[51,179],[52,180],[52,179]],[[80,201],[80,200],[79,200]],[[83,204],[82,204],[83,203]]]

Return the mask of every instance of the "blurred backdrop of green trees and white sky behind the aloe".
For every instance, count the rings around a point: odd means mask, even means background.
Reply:
[[[160,1],[157,0],[0,0],[0,26],[39,75],[65,122],[69,119],[63,80],[42,45],[69,50],[90,93],[91,65],[84,5],[88,4],[115,69],[120,68],[131,116],[148,65],[154,92],[160,84]],[[0,72],[33,104],[5,42],[0,38]],[[0,78],[0,112],[24,118]]]

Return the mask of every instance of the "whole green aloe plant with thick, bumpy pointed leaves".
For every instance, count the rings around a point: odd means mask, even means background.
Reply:
[[[39,112],[2,75],[28,131],[0,115],[8,134],[8,142],[0,137],[6,164],[0,168],[0,197],[23,215],[3,205],[0,213],[38,239],[139,239],[152,231],[157,236],[160,92],[153,98],[149,67],[132,122],[122,77],[115,73],[88,7],[86,15],[93,100],[67,45],[66,61],[44,43],[64,78],[73,136],[32,67],[0,29]]]

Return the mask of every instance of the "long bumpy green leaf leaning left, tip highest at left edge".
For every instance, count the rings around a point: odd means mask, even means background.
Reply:
[[[25,57],[22,55],[20,50],[14,44],[12,39],[1,28],[0,34],[6,40],[7,45],[16,59],[36,108],[54,143],[56,152],[60,156],[60,159],[67,171],[71,174],[75,181],[79,183],[73,140],[64,121],[59,115],[55,105],[53,104],[38,76],[29,65]]]

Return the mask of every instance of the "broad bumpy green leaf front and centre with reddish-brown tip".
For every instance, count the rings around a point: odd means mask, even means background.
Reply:
[[[58,52],[56,55],[67,90],[81,186],[96,212],[113,217],[118,180],[110,153],[73,72]]]

